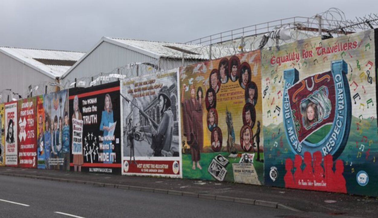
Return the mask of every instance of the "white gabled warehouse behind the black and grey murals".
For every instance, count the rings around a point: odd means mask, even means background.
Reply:
[[[61,77],[61,84],[89,86],[101,75],[133,77],[208,59],[208,46],[102,37]]]

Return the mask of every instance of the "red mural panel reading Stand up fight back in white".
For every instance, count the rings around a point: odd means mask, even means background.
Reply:
[[[18,157],[19,167],[37,167],[37,120],[36,97],[18,101]]]

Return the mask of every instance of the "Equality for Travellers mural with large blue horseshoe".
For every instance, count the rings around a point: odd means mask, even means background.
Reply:
[[[262,50],[265,184],[378,195],[375,31]]]

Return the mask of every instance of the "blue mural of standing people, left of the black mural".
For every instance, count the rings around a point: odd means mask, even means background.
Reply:
[[[69,170],[70,163],[70,120],[68,118],[68,90],[43,96],[45,130],[43,154],[45,169]],[[40,117],[39,117],[40,119]],[[41,127],[40,127],[41,130]],[[42,147],[39,146],[39,149]],[[40,166],[40,168],[43,168]]]

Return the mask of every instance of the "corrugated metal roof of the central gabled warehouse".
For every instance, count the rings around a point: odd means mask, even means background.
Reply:
[[[182,58],[182,52],[185,53],[185,58],[192,58],[198,60],[209,59],[208,54],[204,54],[203,48],[208,46],[196,45],[196,44],[184,44],[184,43],[172,43],[163,41],[146,41],[146,40],[134,40],[127,38],[105,37],[110,41],[116,41],[124,44],[125,46],[131,46],[133,48],[141,49],[146,52],[150,52],[154,55],[167,58]],[[133,49],[127,47],[129,49]]]

